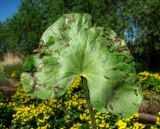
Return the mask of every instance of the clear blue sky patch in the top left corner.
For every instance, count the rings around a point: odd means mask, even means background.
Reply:
[[[4,22],[18,11],[21,0],[0,0],[0,22]]]

